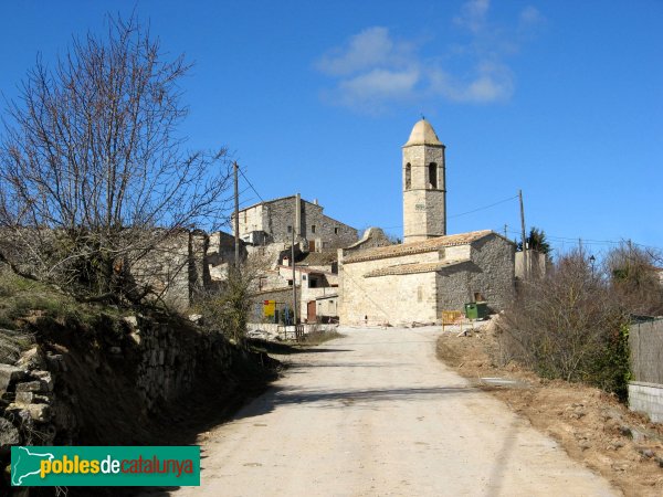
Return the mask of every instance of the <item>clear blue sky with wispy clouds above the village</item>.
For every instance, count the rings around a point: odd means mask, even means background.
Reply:
[[[515,199],[464,213],[523,189],[557,248],[663,247],[661,0],[2,2],[0,92],[135,6],[194,63],[189,146],[229,147],[264,199],[400,235],[400,146],[423,114],[448,147],[450,233],[515,236]]]

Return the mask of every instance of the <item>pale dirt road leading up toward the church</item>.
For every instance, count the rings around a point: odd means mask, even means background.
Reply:
[[[619,495],[435,358],[435,330],[341,330],[201,435],[183,496]]]

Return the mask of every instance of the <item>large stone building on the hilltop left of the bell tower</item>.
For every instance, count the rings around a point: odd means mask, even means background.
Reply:
[[[290,244],[293,230],[295,241],[305,241],[311,252],[336,250],[358,240],[356,229],[323,214],[317,200],[308,202],[299,193],[251,205],[239,215],[240,237],[252,245]]]

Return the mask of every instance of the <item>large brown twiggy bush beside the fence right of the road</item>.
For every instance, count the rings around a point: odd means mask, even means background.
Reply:
[[[498,321],[504,359],[546,378],[586,381],[623,398],[629,377],[629,309],[588,255],[558,257],[545,278],[527,282]]]

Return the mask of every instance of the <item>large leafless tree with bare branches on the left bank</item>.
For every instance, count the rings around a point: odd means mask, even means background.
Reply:
[[[189,152],[179,82],[135,18],[29,72],[0,138],[0,258],[87,298],[139,300],[131,268],[225,211],[227,151]],[[145,264],[144,264],[145,265]]]

